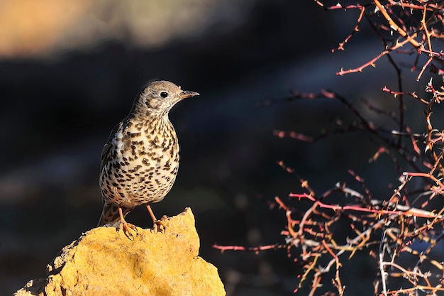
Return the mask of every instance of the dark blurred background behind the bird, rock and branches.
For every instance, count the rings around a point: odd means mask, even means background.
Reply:
[[[377,178],[396,173],[381,170],[384,160],[368,163],[378,146],[366,133],[316,143],[272,136],[274,129],[311,135],[338,118],[351,122],[338,102],[258,106],[290,90],[324,88],[396,106],[379,92],[396,85],[382,63],[335,76],[383,50],[362,23],[345,52],[331,53],[353,31],[357,12],[290,0],[1,1],[0,295],[44,277],[63,246],[96,226],[101,148],[153,79],[201,94],[170,113],[181,166],[153,211],[173,216],[192,208],[201,256],[216,265],[229,296],[293,295],[301,268],[284,250],[221,254],[211,246],[284,242],[284,212],[268,202],[287,200],[300,185],[278,160],[319,193],[348,168],[376,192],[389,192]],[[128,221],[152,226],[146,209]],[[372,295],[374,268],[364,261],[344,271],[353,272],[346,291]]]

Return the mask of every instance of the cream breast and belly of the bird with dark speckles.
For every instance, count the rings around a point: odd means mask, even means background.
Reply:
[[[106,202],[130,208],[160,202],[179,168],[179,144],[170,121],[122,125],[110,140],[110,157],[100,176]]]

